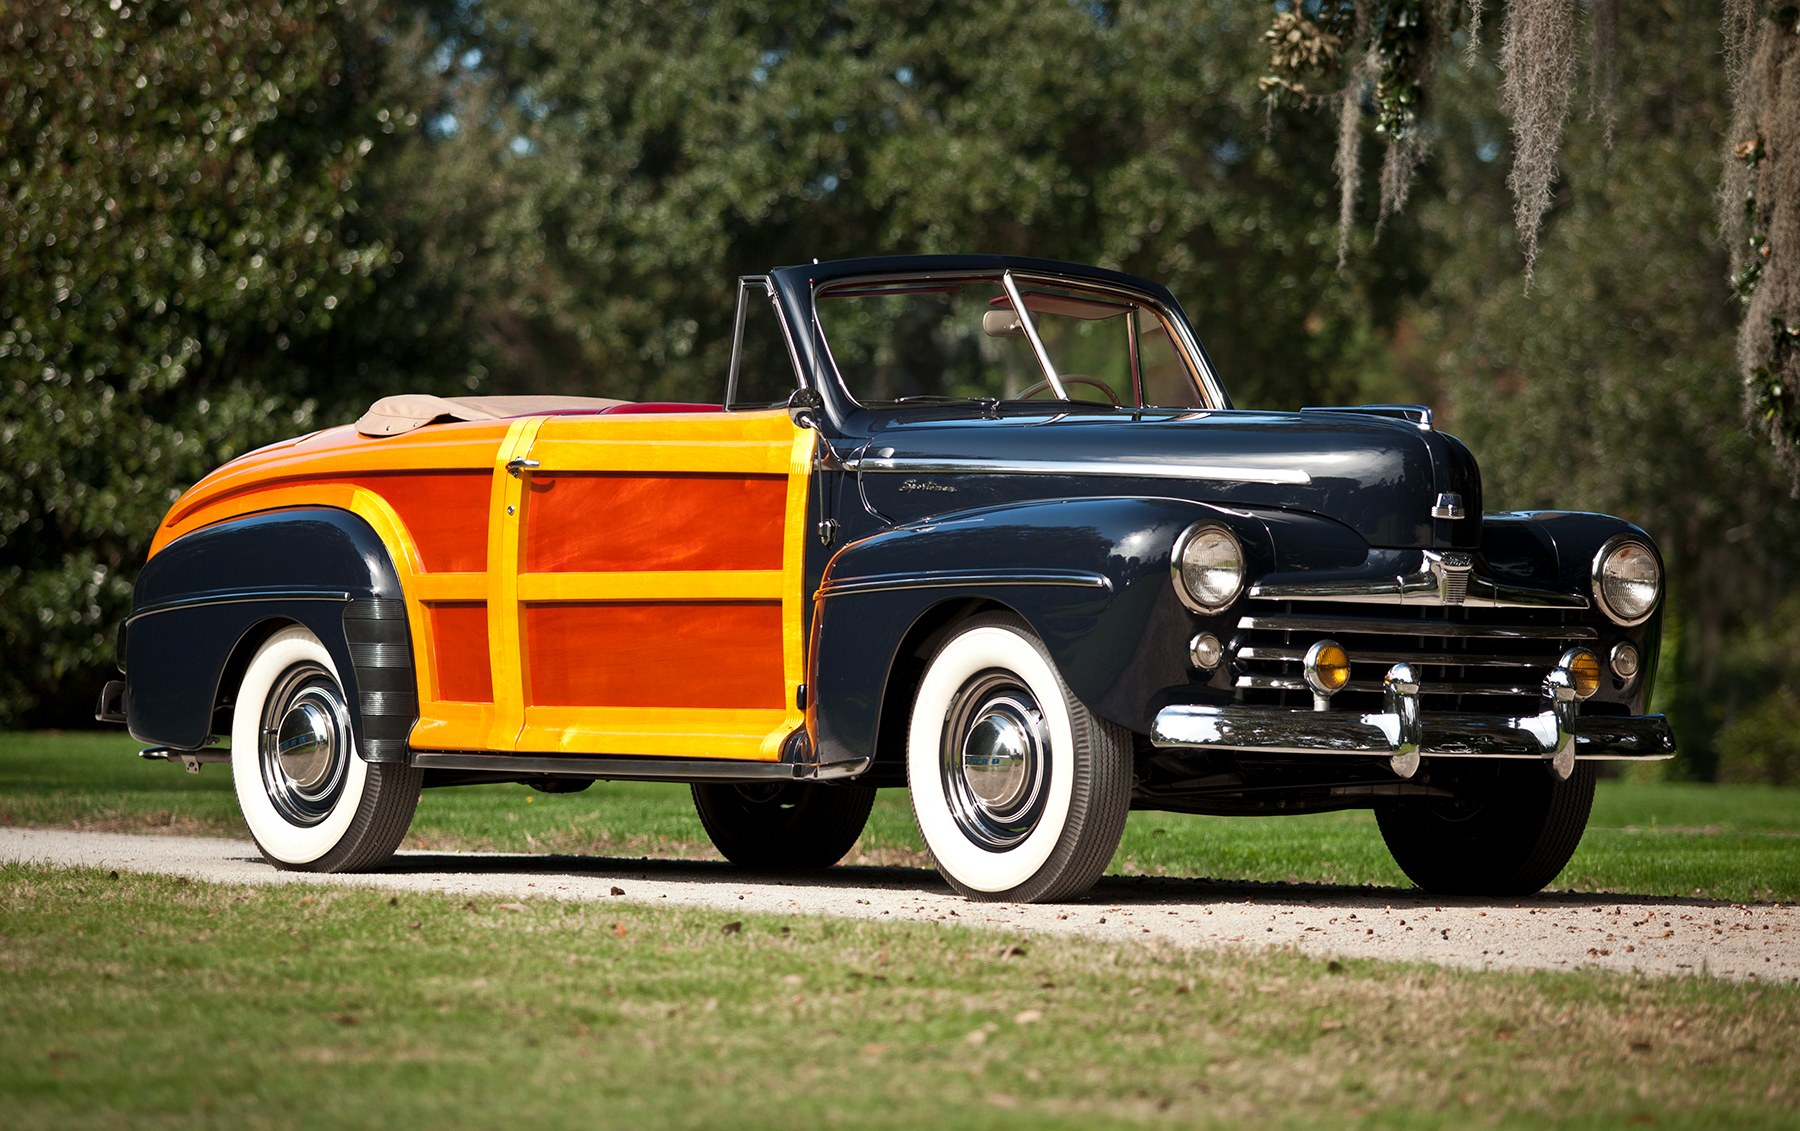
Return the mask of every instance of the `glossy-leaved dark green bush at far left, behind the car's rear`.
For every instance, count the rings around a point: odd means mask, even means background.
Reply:
[[[418,43],[374,0],[0,14],[0,719],[92,710],[184,486],[427,358],[473,373],[405,198],[371,200]]]

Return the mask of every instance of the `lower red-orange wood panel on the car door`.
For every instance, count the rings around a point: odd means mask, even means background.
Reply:
[[[785,706],[781,602],[526,605],[526,706]]]

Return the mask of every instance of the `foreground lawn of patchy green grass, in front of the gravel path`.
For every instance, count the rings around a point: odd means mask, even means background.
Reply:
[[[0,864],[0,1124],[1791,1127],[1800,989]]]

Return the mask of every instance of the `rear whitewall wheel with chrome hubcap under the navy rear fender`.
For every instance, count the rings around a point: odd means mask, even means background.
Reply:
[[[268,638],[243,674],[230,776],[263,857],[297,872],[360,872],[391,857],[423,778],[356,755],[331,656],[299,627]]]

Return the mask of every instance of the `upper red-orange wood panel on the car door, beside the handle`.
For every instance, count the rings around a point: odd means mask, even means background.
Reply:
[[[526,573],[781,569],[785,475],[540,472]]]

